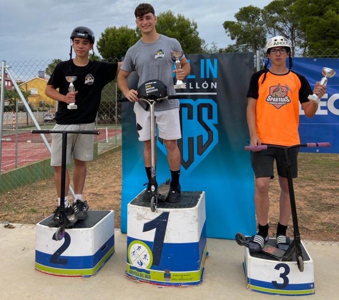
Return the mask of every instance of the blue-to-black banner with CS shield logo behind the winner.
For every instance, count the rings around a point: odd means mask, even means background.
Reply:
[[[205,191],[207,237],[234,239],[256,232],[254,176],[246,123],[246,92],[253,53],[187,55],[191,74],[180,100],[182,191]],[[132,75],[132,74],[131,74]],[[135,81],[135,80],[134,80]],[[171,177],[165,147],[157,141],[157,181]],[[121,231],[127,231],[127,204],[147,181],[143,143],[138,141],[133,104],[122,111]]]

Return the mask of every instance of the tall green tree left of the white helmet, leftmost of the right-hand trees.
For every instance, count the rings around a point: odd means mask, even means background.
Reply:
[[[223,23],[227,36],[235,40],[233,47],[227,47],[225,51],[264,50],[268,31],[263,19],[263,10],[253,5],[245,6],[241,7],[234,17],[237,21]]]

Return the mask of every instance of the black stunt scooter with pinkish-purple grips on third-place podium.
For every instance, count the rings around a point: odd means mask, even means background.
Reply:
[[[288,249],[286,251],[278,249],[276,247],[270,245],[264,245],[262,248],[262,252],[266,253],[274,257],[279,261],[289,261],[291,260],[293,254],[295,253],[298,269],[300,272],[304,270],[304,261],[301,251],[301,239],[300,239],[300,232],[299,232],[299,225],[298,225],[298,217],[297,217],[297,208],[294,196],[294,188],[293,188],[293,180],[292,180],[292,171],[291,171],[291,160],[289,156],[289,149],[299,148],[299,147],[330,147],[330,143],[306,143],[306,144],[299,144],[293,146],[276,146],[276,145],[259,145],[259,146],[245,146],[245,150],[265,150],[267,148],[276,148],[282,149],[284,151],[285,157],[285,165],[287,171],[287,183],[288,183],[288,192],[290,194],[290,201],[291,201],[291,212],[292,212],[292,221],[293,221],[293,235],[294,239],[292,243],[290,243]],[[242,233],[238,232],[235,236],[236,242],[239,245],[248,247],[250,242],[250,237],[244,237]]]

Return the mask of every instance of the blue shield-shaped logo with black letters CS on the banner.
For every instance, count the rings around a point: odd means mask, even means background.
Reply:
[[[180,99],[181,135],[178,140],[181,152],[181,172],[192,172],[218,144],[217,104],[213,99]],[[157,146],[166,154],[162,139]]]

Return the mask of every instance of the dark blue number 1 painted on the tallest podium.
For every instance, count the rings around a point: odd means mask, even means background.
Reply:
[[[157,218],[153,219],[144,224],[142,232],[146,232],[155,228],[155,235],[153,239],[153,265],[158,266],[160,264],[162,246],[164,244],[166,227],[168,223],[169,211],[165,211],[158,215]]]

